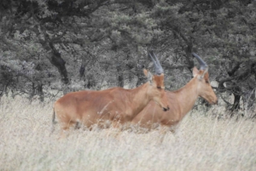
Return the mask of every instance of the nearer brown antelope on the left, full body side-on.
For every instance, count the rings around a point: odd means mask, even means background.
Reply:
[[[148,83],[133,89],[109,88],[101,91],[79,91],[64,95],[55,102],[55,115],[61,123],[61,130],[67,130],[74,123],[83,123],[90,128],[93,124],[126,123],[137,116],[150,100],[168,111],[165,94],[164,71],[157,57],[148,53],[153,60],[155,75],[143,70]]]

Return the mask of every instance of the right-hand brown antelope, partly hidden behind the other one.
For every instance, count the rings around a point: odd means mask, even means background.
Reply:
[[[151,101],[143,111],[132,120],[132,124],[138,124],[143,128],[154,128],[159,124],[171,128],[171,126],[177,125],[192,109],[198,96],[207,100],[210,104],[217,104],[218,100],[210,85],[206,62],[201,60],[197,54],[192,53],[192,55],[200,63],[200,70],[198,71],[196,67],[193,68],[194,78],[183,86],[183,88],[173,92],[166,91],[170,111],[160,111],[159,108],[155,106],[154,101]]]

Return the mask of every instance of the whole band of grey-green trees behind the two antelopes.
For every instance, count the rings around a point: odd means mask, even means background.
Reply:
[[[3,0],[0,90],[44,100],[47,88],[65,94],[123,87],[127,79],[138,86],[142,67],[151,65],[148,50],[160,56],[166,88],[179,88],[191,77],[196,52],[210,66],[218,94],[234,95],[230,110],[241,99],[249,108],[255,104],[255,8],[250,0]]]

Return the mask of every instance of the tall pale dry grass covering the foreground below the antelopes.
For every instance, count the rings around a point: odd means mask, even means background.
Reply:
[[[212,117],[193,111],[175,134],[71,130],[50,134],[52,104],[3,97],[0,104],[0,170],[256,170],[256,124],[247,117]]]

